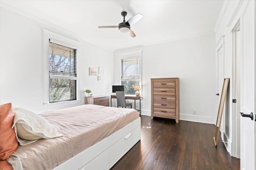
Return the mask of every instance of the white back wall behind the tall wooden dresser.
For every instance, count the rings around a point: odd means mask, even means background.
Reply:
[[[142,50],[142,114],[150,115],[150,78],[179,77],[180,119],[215,123],[218,109],[215,34],[114,52],[114,84],[120,84],[118,54],[139,50]]]

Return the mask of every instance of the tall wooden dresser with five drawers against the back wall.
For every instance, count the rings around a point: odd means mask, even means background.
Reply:
[[[179,78],[151,78],[151,119],[163,117],[180,120]]]

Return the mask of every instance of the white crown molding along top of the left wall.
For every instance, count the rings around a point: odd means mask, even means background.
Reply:
[[[102,48],[104,48],[104,49],[106,49],[106,50],[109,50],[109,51],[112,51],[112,52],[114,51],[113,49],[110,49],[110,48],[108,48],[108,47],[106,47],[106,46],[104,46],[104,45],[102,45],[102,44],[100,44],[100,43],[96,43],[95,41],[92,41],[92,40],[90,40],[90,39],[87,39],[86,37],[83,37],[82,35],[79,35],[79,34],[77,34],[77,33],[74,33],[74,32],[72,32],[72,31],[69,31],[68,29],[64,29],[64,28],[62,28],[62,27],[60,27],[60,26],[58,26],[58,25],[55,25],[55,24],[53,24],[53,23],[50,23],[50,22],[48,22],[48,21],[46,21],[46,20],[42,20],[41,18],[38,18],[38,17],[33,16],[33,15],[31,15],[31,14],[28,14],[28,13],[22,11],[22,10],[19,10],[18,8],[14,8],[13,6],[10,6],[10,5],[8,5],[8,4],[5,4],[5,3],[2,2],[2,1],[0,1],[0,7],[5,8],[5,9],[7,9],[7,10],[10,10],[10,11],[12,11],[12,12],[15,12],[15,13],[17,13],[17,14],[20,14],[20,15],[26,17],[26,18],[30,18],[31,20],[34,20],[34,21],[36,21],[36,22],[38,22],[38,23],[41,23],[41,24],[44,24],[44,25],[53,27],[53,28],[55,28],[55,29],[58,29],[59,31],[62,31],[63,33],[69,34],[69,35],[71,35],[71,36],[75,36],[75,37],[80,38],[80,39],[82,39],[82,40],[84,40],[84,41],[87,41],[88,43],[91,43],[91,44],[97,45],[97,46],[99,46],[99,47],[102,47]]]

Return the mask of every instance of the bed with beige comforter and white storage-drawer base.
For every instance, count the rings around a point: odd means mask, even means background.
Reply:
[[[19,145],[10,158],[18,156],[20,169],[108,170],[140,140],[134,109],[82,105],[40,115],[63,136]]]

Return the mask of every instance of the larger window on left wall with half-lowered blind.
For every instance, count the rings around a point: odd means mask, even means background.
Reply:
[[[49,102],[76,100],[76,49],[49,39]]]

